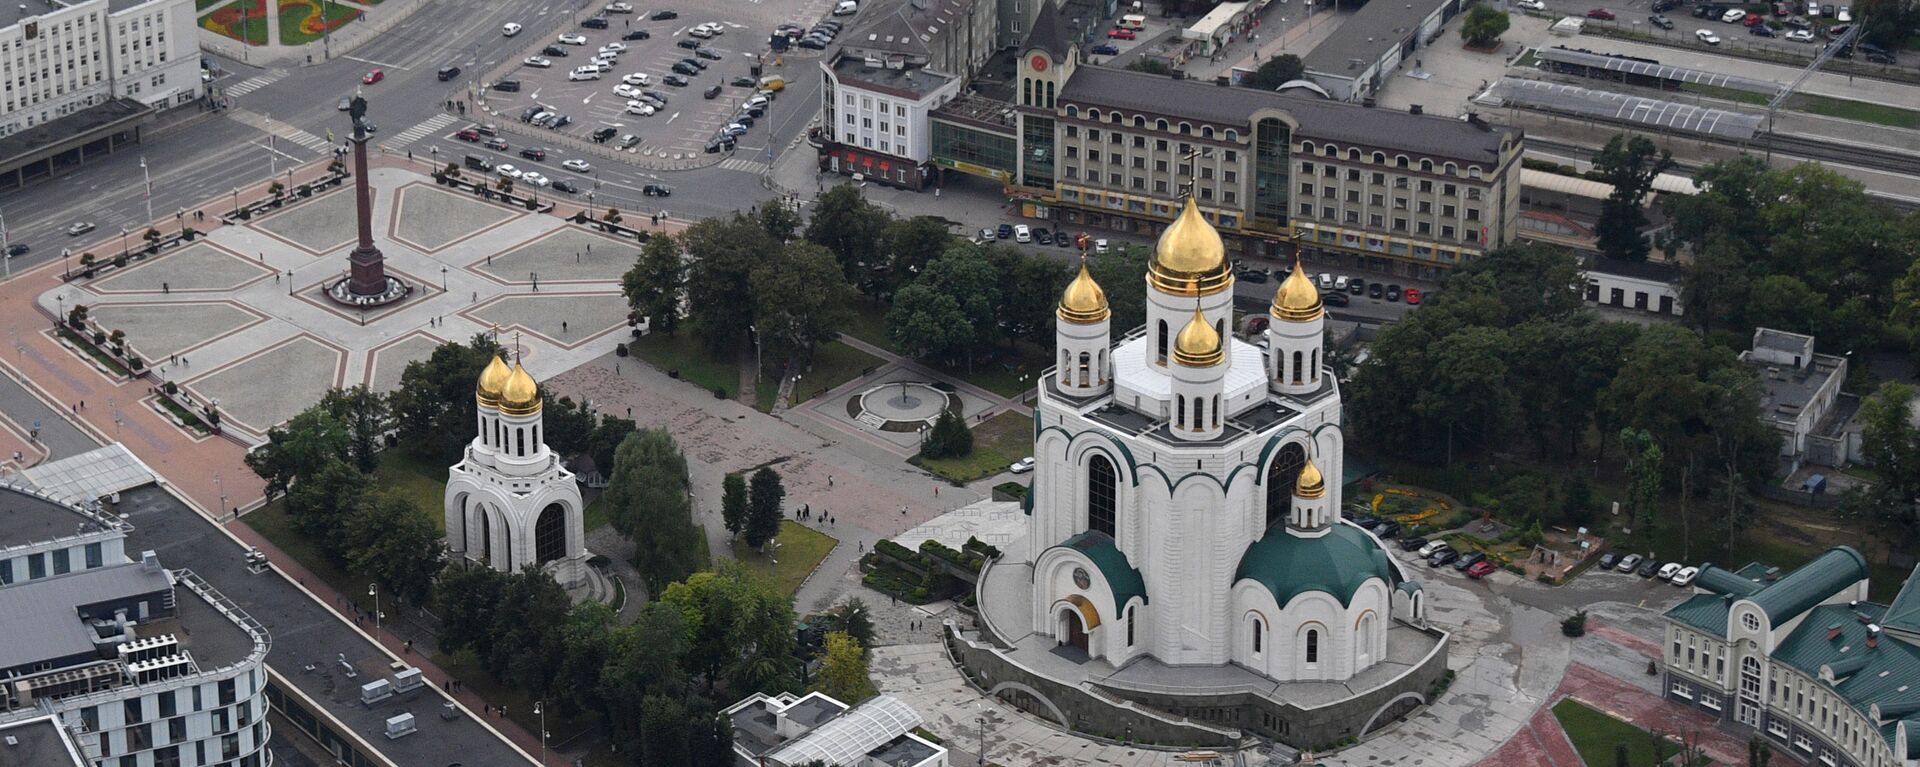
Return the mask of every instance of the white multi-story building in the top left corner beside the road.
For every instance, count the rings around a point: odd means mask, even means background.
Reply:
[[[12,6],[0,12],[0,173],[131,140],[152,111],[202,94],[194,4]]]

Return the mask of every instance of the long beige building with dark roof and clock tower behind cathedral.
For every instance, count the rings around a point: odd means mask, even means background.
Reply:
[[[929,119],[935,165],[1002,179],[1064,225],[1158,236],[1190,183],[1238,256],[1298,244],[1432,277],[1517,235],[1521,131],[1083,65],[1056,13],[1020,54],[1014,104]]]

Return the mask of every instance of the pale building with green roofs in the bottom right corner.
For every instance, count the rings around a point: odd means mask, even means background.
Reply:
[[[1707,575],[1713,573],[1709,579]],[[1782,573],[1707,565],[1667,611],[1667,698],[1834,767],[1920,767],[1914,582],[1868,602],[1866,557],[1836,546]]]

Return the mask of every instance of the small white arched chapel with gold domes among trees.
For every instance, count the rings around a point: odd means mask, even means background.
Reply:
[[[540,384],[501,358],[474,384],[478,433],[447,469],[447,552],[501,573],[538,565],[563,586],[588,577],[586,506],[541,438]]]

